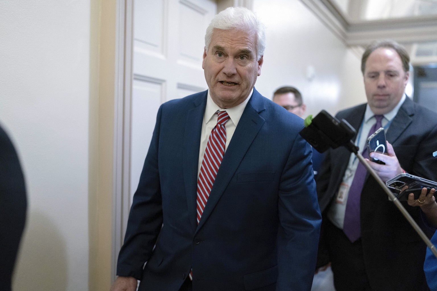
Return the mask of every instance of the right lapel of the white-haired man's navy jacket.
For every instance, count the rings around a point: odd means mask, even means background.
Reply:
[[[265,110],[263,98],[264,97],[254,88],[253,95],[241,115],[239,123],[232,136],[232,140],[225,152],[225,156],[223,157],[222,164],[218,169],[217,177],[215,178],[214,185],[212,186],[208,202],[206,203],[196,232],[210,216],[212,210],[234,176],[239,164],[243,160],[250,144],[252,144],[258,131],[263,126],[265,120],[259,115],[261,111]]]

